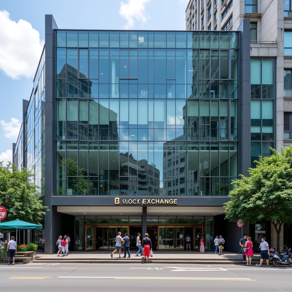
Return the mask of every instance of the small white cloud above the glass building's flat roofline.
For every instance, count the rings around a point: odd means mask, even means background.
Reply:
[[[150,0],[128,0],[127,3],[121,2],[120,15],[126,19],[125,29],[134,26],[135,20],[145,23],[149,16],[145,13],[145,4]]]

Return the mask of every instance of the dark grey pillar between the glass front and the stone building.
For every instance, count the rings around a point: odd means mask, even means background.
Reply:
[[[251,167],[251,59],[250,20],[239,25],[239,174]]]

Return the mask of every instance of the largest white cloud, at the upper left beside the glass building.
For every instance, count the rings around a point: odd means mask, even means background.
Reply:
[[[9,13],[2,10],[0,40],[0,69],[13,79],[32,77],[44,46],[39,32],[23,19],[12,21]]]

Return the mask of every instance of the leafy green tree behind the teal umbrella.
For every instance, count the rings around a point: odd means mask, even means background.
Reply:
[[[26,168],[20,171],[11,162],[4,166],[0,161],[0,205],[8,213],[3,222],[20,219],[40,224],[46,212],[50,211],[42,205],[39,187],[32,183],[33,176]]]

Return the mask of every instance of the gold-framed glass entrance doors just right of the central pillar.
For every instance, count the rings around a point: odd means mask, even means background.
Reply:
[[[159,226],[159,250],[183,250],[184,227]]]

